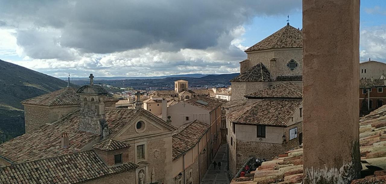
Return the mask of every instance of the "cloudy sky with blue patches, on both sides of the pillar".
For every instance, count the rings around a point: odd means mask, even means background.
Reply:
[[[0,59],[56,77],[236,73],[301,0],[0,1]],[[386,1],[361,1],[361,61],[386,61]]]

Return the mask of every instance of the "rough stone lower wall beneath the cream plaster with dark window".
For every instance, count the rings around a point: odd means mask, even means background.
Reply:
[[[236,140],[236,167],[239,169],[249,157],[272,160],[287,151],[286,144]]]

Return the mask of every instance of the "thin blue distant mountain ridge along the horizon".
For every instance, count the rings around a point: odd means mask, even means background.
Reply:
[[[164,76],[153,76],[153,77],[129,77],[129,76],[120,76],[120,77],[95,77],[94,80],[125,80],[125,79],[164,79],[169,77],[191,77],[191,78],[201,78],[208,75],[220,75],[220,74],[180,74],[180,75],[164,75]],[[67,80],[68,78],[61,77],[59,79]],[[71,80],[74,81],[88,81],[88,77],[72,77]]]

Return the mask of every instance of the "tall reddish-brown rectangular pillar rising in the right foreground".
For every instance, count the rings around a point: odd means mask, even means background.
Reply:
[[[303,0],[304,183],[359,177],[359,0]]]

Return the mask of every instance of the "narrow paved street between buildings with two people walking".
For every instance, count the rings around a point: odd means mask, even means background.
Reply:
[[[229,184],[227,177],[227,144],[223,144],[218,150],[215,159],[216,162],[221,162],[221,169],[218,166],[214,169],[213,164],[210,165],[209,170],[205,173],[202,184]],[[213,161],[212,161],[213,162]]]

